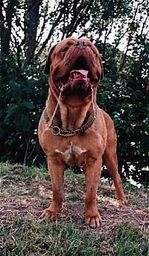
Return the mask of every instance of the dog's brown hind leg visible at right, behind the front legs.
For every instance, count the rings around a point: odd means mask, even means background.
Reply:
[[[127,199],[124,195],[124,189],[122,186],[121,177],[118,174],[118,159],[115,153],[115,150],[110,148],[109,151],[105,150],[103,156],[103,163],[107,166],[108,171],[112,177],[112,180],[115,185],[116,198],[121,201],[122,204],[127,202]]]

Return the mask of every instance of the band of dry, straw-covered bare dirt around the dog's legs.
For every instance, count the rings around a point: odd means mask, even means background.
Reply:
[[[7,184],[8,185],[8,184]],[[12,185],[12,183],[11,183]],[[10,186],[10,184],[9,184]],[[34,183],[17,183],[11,187],[12,192],[4,187],[0,194],[0,218],[1,223],[12,222],[13,219],[34,219],[38,221],[41,211],[48,207],[51,201],[51,183],[47,180],[34,180]],[[23,187],[23,189],[21,189]],[[29,195],[31,190],[32,195]],[[21,189],[21,190],[20,190]],[[84,226],[83,219],[83,198],[71,200],[67,196],[69,187],[66,188],[66,200],[63,206],[63,212],[57,220],[59,223],[74,223]],[[18,192],[18,194],[16,193]],[[19,194],[19,192],[21,193]],[[83,188],[76,188],[76,192],[83,195]],[[15,194],[16,193],[16,194]],[[145,192],[127,193],[128,204],[119,205],[115,200],[114,189],[101,187],[98,189],[98,209],[100,210],[102,223],[101,232],[108,233],[110,229],[121,222],[130,222],[141,228],[143,231],[149,231],[149,211],[148,195]],[[136,202],[136,203],[135,203]]]

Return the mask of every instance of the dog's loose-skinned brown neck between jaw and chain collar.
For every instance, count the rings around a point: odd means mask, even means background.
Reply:
[[[48,96],[47,109],[49,117],[53,115],[56,109],[57,100],[54,98],[54,95],[50,94]],[[52,123],[58,127],[61,127],[62,129],[79,129],[93,111],[95,97],[93,100],[92,95],[84,98],[78,96],[77,94],[71,95],[70,97],[60,97],[58,104],[59,106],[55,112]]]

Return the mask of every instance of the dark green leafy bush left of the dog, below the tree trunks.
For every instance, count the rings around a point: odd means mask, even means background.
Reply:
[[[44,162],[37,128],[48,86],[41,67],[18,67],[12,58],[7,68],[7,84],[0,91],[1,159],[24,164]]]

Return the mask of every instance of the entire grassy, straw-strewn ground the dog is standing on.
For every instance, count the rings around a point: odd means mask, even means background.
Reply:
[[[98,189],[101,228],[83,220],[83,174],[66,171],[65,203],[56,222],[39,222],[51,201],[48,171],[0,163],[0,256],[148,256],[148,191],[124,184],[127,206],[115,191]]]

